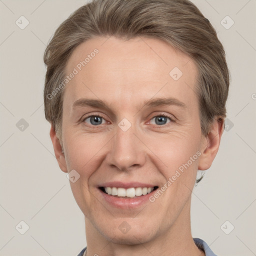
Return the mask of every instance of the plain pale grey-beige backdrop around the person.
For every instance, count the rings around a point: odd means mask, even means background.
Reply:
[[[252,256],[256,255],[256,1],[192,2],[218,32],[231,73],[228,126],[212,166],[192,193],[192,235],[204,239],[217,255]],[[42,97],[45,45],[57,26],[84,3],[0,0],[0,255],[70,256],[86,245],[84,217],[54,157]],[[15,24],[21,15],[29,21],[24,29]],[[221,24],[221,20],[225,26],[231,24],[227,15],[234,21],[229,29]],[[23,131],[16,125],[21,118],[28,124]],[[29,226],[24,234],[15,228],[21,220]]]

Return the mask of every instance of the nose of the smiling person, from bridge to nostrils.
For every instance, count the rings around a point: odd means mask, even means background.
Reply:
[[[116,127],[116,134],[111,139],[111,148],[106,156],[109,166],[128,171],[145,163],[145,146],[140,141],[141,138],[138,139],[137,133],[133,125],[126,131]]]

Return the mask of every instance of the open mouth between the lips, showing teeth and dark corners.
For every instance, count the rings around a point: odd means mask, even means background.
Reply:
[[[143,197],[156,190],[158,186],[151,187],[110,187],[110,186],[99,186],[98,187],[103,193],[119,198],[138,198]]]

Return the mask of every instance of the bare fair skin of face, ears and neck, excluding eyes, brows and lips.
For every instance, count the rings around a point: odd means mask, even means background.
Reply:
[[[223,122],[215,120],[208,135],[201,134],[193,60],[159,39],[94,37],[75,48],[66,74],[94,48],[98,54],[64,88],[64,153],[50,130],[61,170],[75,169],[80,175],[70,186],[85,216],[87,256],[205,255],[191,236],[191,191],[197,169],[208,169],[217,153]],[[173,67],[183,72],[177,81],[169,75]],[[142,107],[145,100],[164,97],[186,107]],[[105,100],[109,109],[72,107],[80,98]],[[173,121],[167,118],[157,124],[155,116],[162,113]],[[89,114],[101,114],[102,123],[93,125],[85,119]],[[131,123],[127,131],[118,126],[123,118]],[[111,207],[97,188],[112,180],[161,187],[197,151],[200,157],[154,202],[142,207]],[[131,227],[125,234],[118,229],[123,221]]]

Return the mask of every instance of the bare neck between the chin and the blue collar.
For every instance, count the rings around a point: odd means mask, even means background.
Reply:
[[[195,245],[191,235],[190,200],[191,198],[166,231],[156,233],[154,239],[144,243],[139,240],[136,244],[113,243],[106,239],[85,217],[86,256],[205,256],[205,253]]]

